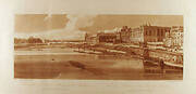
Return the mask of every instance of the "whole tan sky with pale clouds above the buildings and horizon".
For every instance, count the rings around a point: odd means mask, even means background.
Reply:
[[[146,23],[155,26],[183,26],[182,15],[128,14],[16,14],[15,37],[30,36],[42,39],[81,40],[84,35],[112,30],[122,26],[138,27]]]

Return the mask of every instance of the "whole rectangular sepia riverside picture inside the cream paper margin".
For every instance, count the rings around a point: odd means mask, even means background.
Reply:
[[[14,79],[183,80],[183,15],[15,14]]]

